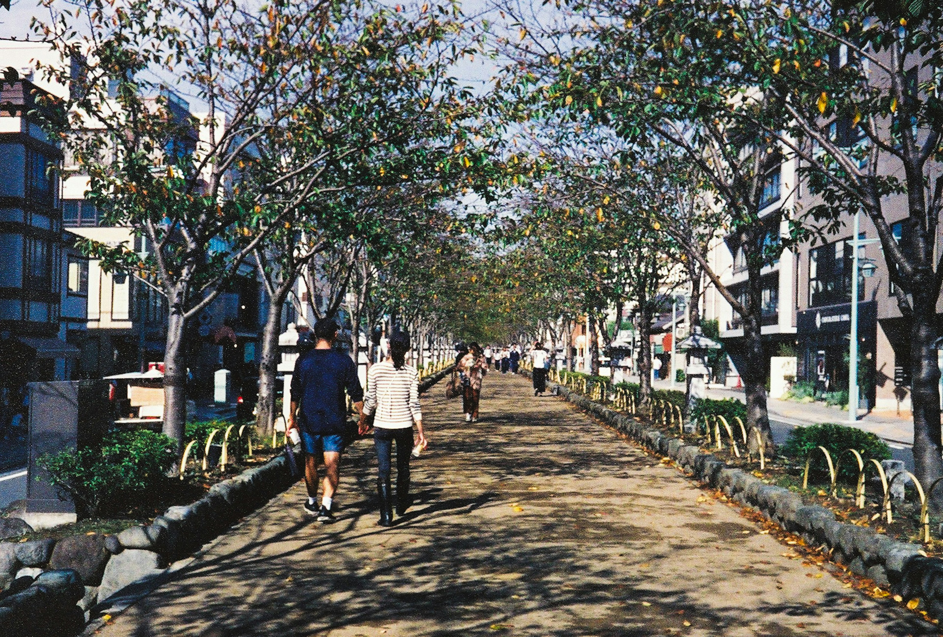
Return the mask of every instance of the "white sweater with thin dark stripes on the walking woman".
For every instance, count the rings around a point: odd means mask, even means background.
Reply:
[[[377,363],[367,372],[363,413],[375,414],[373,426],[405,429],[422,420],[419,406],[419,372],[404,365],[393,368],[392,361]]]

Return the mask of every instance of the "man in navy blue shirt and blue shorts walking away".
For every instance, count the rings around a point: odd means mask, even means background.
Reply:
[[[337,336],[338,324],[333,319],[315,323],[314,349],[298,357],[291,376],[289,430],[298,429],[305,449],[305,510],[317,515],[324,524],[334,521],[331,505],[338,488],[347,423],[345,392],[354,402],[357,416],[363,412],[363,388],[356,375],[356,364],[347,354],[333,349]],[[318,508],[320,457],[324,461],[324,493]]]

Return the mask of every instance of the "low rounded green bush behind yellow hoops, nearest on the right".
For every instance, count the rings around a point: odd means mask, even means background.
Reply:
[[[845,449],[854,449],[861,454],[865,462],[868,462],[869,458],[877,461],[890,458],[890,448],[875,434],[831,422],[796,427],[789,433],[789,438],[781,451],[784,455],[804,465],[805,459],[819,446],[828,449],[832,455],[832,462],[838,465],[838,477],[843,480],[856,480],[858,477],[857,462],[853,455],[851,453],[841,455]],[[809,470],[828,473],[825,454],[820,450],[813,453]]]

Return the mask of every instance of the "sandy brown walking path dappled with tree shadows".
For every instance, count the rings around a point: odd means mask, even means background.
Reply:
[[[521,377],[488,376],[476,424],[440,391],[419,502],[392,530],[358,443],[337,524],[312,523],[296,485],[101,637],[936,634]]]

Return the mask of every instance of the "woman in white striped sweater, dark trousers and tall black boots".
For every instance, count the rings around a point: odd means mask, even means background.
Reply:
[[[381,527],[393,524],[390,470],[393,442],[396,443],[396,515],[409,508],[409,455],[413,449],[413,423],[419,433],[419,445],[428,444],[422,432],[422,411],[419,402],[419,372],[405,364],[409,351],[409,335],[396,332],[389,337],[389,358],[367,372],[367,396],[360,416],[358,431],[367,433],[369,417],[373,417],[373,446],[376,449],[379,474],[376,494],[380,498]]]

